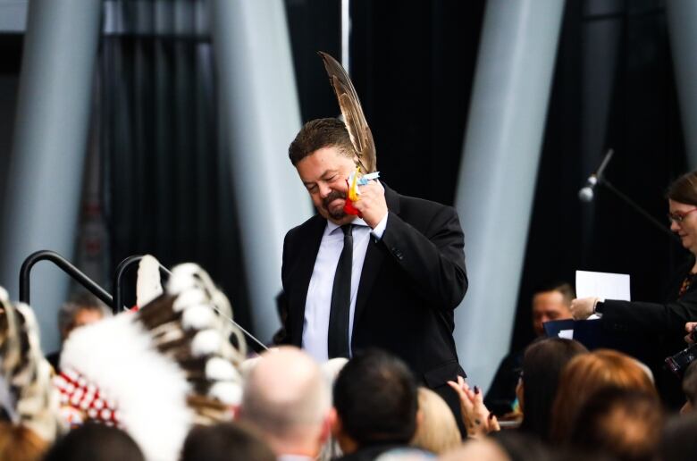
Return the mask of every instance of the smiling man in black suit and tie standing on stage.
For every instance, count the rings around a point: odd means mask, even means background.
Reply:
[[[307,122],[290,144],[289,156],[319,215],[290,230],[284,241],[287,342],[319,361],[368,347],[385,349],[459,410],[446,384],[464,375],[452,337],[453,311],[467,289],[457,212],[371,180],[360,187],[354,204],[362,219],[346,214],[347,179],[357,155],[338,119]],[[347,321],[337,330],[334,274],[350,239]],[[345,335],[348,347],[332,349],[337,344],[332,331]]]

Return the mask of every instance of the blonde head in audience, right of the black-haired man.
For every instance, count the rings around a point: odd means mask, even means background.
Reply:
[[[448,404],[428,388],[419,387],[418,392],[421,418],[411,444],[437,455],[458,447],[462,437]]]

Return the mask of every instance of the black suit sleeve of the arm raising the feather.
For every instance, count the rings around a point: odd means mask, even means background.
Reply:
[[[465,297],[465,238],[458,214],[439,206],[424,233],[390,212],[382,243],[407,276],[432,305],[454,309]]]

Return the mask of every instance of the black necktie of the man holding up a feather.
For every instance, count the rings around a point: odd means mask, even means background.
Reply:
[[[329,311],[329,331],[327,352],[329,358],[348,358],[348,312],[351,307],[351,266],[353,262],[353,235],[351,224],[341,226],[344,231],[344,249],[336,264],[334,286],[332,288],[332,307]]]

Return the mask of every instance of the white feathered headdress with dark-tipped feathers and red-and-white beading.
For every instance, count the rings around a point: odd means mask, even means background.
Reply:
[[[56,382],[67,415],[121,426],[150,460],[178,458],[192,424],[230,420],[239,405],[246,343],[231,317],[205,271],[175,267],[138,312],[71,333]]]

